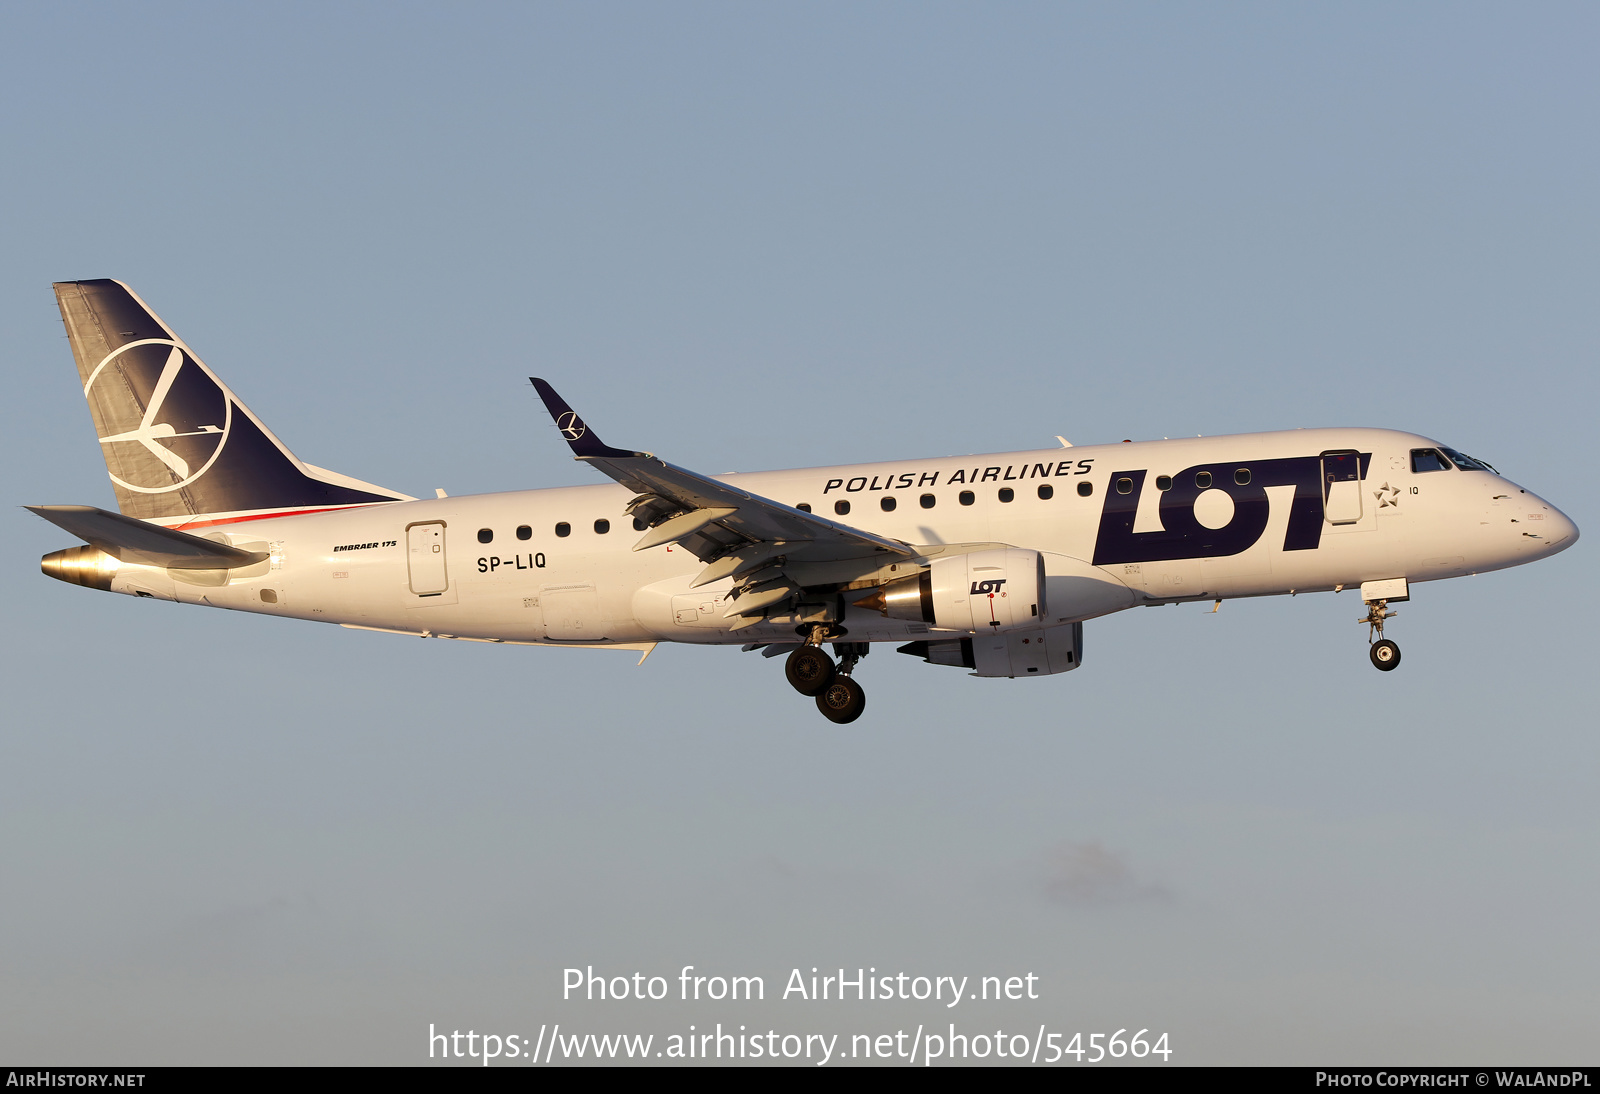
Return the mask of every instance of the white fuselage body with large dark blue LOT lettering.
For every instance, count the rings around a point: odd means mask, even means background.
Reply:
[[[1050,624],[1141,603],[1458,577],[1574,542],[1578,529],[1560,510],[1493,472],[1414,472],[1410,453],[1435,445],[1394,430],[1317,429],[722,478],[914,545],[1038,550],[1051,581]],[[1334,464],[1323,465],[1323,454],[1339,451],[1355,454],[1358,477],[1330,486]],[[1195,469],[1211,475],[1210,486],[1195,485]],[[1166,477],[1171,485],[1158,488]],[[722,609],[730,582],[691,590],[704,565],[685,549],[634,552],[642,533],[624,515],[630,497],[605,483],[163,520],[272,558],[216,581],[125,565],[112,589],[488,641],[794,641],[782,622],[730,630]],[[597,531],[605,521],[608,531]],[[930,637],[926,624],[861,608],[842,622],[862,641]]]

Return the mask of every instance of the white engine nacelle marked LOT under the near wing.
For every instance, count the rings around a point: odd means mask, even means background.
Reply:
[[[942,630],[995,635],[1032,629],[1048,616],[1045,557],[997,547],[934,558],[920,574],[893,581],[856,603]]]

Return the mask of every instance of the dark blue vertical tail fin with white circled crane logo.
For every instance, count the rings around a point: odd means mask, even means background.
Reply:
[[[302,464],[122,281],[54,286],[117,507],[141,520],[411,501]]]

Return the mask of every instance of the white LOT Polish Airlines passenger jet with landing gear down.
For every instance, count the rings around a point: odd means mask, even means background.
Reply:
[[[1134,606],[1360,590],[1373,665],[1411,585],[1578,542],[1490,464],[1389,429],[1296,429],[701,475],[534,392],[592,486],[411,497],[296,459],[133,289],[54,286],[118,512],[29,505],[88,589],[422,638],[786,657],[824,717],[859,661],[974,677],[1083,661]],[[824,649],[830,645],[834,653]]]

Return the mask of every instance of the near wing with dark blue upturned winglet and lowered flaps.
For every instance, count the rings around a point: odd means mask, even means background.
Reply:
[[[646,531],[634,550],[682,544],[709,563],[696,585],[734,577],[736,603],[730,616],[749,617],[798,593],[802,584],[786,573],[790,558],[803,563],[861,560],[870,571],[888,558],[917,553],[898,539],[784,505],[650,453],[611,448],[554,387],[530,379],[573,456],[638,494],[627,512],[646,525]],[[755,619],[758,614],[752,622]]]

